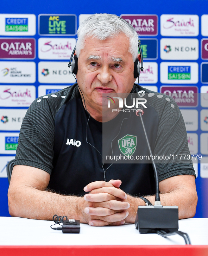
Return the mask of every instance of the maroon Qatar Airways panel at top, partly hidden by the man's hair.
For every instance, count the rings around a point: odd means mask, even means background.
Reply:
[[[141,14],[121,14],[137,31],[139,36],[157,36],[158,35],[158,16]]]

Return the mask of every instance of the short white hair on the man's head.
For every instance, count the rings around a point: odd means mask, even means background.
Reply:
[[[124,19],[107,13],[97,13],[88,17],[77,30],[76,55],[79,57],[84,48],[84,39],[93,37],[105,40],[109,37],[118,36],[124,33],[130,42],[129,52],[132,54],[133,61],[138,54],[138,35],[134,28]]]

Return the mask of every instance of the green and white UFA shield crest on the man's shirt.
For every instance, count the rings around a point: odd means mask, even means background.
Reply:
[[[137,147],[137,136],[126,135],[118,140],[119,149],[125,156],[131,156]]]

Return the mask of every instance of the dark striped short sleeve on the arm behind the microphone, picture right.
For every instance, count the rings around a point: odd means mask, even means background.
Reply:
[[[159,181],[177,175],[195,175],[184,120],[178,105],[170,99],[171,102],[164,99],[166,102],[160,116],[153,154],[163,156],[162,161],[155,160]]]

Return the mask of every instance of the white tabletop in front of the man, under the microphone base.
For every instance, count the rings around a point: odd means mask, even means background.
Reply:
[[[140,234],[134,224],[92,227],[81,224],[80,234],[52,230],[53,221],[0,217],[0,245],[184,245],[179,235]],[[58,225],[57,225],[58,226]],[[53,226],[54,227],[54,226]],[[192,245],[208,245],[208,219],[179,220]]]

